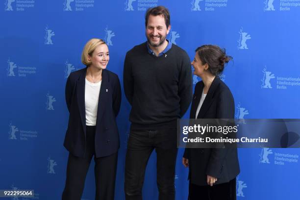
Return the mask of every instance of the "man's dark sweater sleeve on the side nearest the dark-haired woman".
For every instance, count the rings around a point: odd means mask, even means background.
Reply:
[[[193,96],[192,68],[190,58],[186,52],[184,52],[181,61],[178,89],[180,97],[180,117],[182,117],[189,108]]]

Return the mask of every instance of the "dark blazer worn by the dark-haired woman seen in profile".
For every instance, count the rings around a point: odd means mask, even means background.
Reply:
[[[195,119],[203,91],[203,81],[195,86],[190,119]],[[229,88],[216,76],[197,119],[234,119],[234,100]],[[185,149],[183,157],[189,159],[189,178],[193,184],[207,185],[207,175],[217,177],[215,184],[225,183],[240,173],[237,149]]]

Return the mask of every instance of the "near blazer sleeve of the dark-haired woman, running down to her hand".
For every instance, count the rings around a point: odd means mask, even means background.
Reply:
[[[234,100],[231,92],[227,90],[220,93],[217,102],[217,116],[216,119],[234,119]],[[213,177],[220,177],[223,163],[228,154],[229,149],[226,148],[215,148],[212,149],[211,155],[208,161],[206,174]]]

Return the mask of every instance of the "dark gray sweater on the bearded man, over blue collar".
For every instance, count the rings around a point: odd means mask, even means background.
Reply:
[[[145,42],[126,53],[124,90],[133,129],[176,128],[192,100],[192,86],[190,58],[178,46],[157,57]]]

